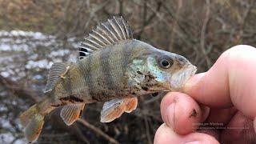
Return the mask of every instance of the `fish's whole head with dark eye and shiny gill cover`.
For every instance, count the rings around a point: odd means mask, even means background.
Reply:
[[[197,70],[185,57],[153,46],[137,54],[130,68],[130,79],[148,93],[182,91]]]

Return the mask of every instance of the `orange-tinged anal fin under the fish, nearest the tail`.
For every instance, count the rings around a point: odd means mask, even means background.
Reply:
[[[70,104],[62,107],[61,117],[67,126],[72,125],[80,118],[85,104]]]

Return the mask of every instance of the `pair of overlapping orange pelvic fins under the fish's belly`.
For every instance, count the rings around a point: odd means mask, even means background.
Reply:
[[[123,112],[130,113],[135,110],[138,98],[113,99],[105,102],[101,111],[101,122],[112,122],[119,118]]]

